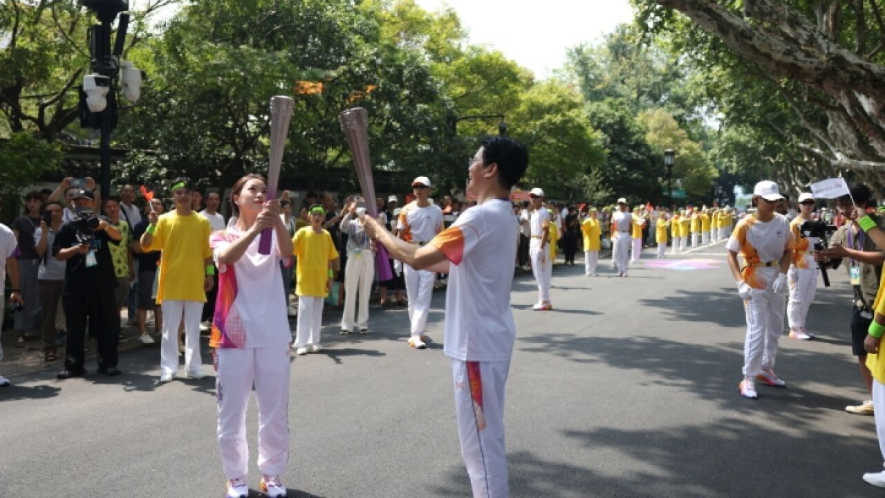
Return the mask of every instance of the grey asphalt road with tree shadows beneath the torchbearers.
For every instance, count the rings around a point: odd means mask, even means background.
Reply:
[[[868,397],[850,356],[847,277],[833,272],[833,286],[819,289],[817,340],[781,338],[776,370],[789,387],[759,385],[761,399],[744,400],[743,306],[722,251],[645,260],[627,278],[609,261],[599,277],[583,276],[581,261],[559,266],[551,312],[530,309],[531,276],[514,282],[513,497],[883,494],[860,479],[881,469],[873,418],[843,411]],[[373,307],[368,336],[338,336],[340,313],[324,315],[327,350],[292,360],[289,496],[470,494],[440,344],[443,300],[437,292],[427,351],[406,346],[402,307]],[[158,355],[122,354],[124,375],[112,379],[13,376],[0,389],[0,496],[224,494],[213,377],[157,385]],[[256,426],[253,400],[253,452]]]

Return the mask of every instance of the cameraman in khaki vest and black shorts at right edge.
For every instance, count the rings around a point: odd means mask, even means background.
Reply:
[[[829,248],[825,251],[816,251],[814,261],[828,263],[830,268],[836,268],[840,262],[845,263],[845,269],[854,290],[854,303],[851,307],[851,354],[858,357],[860,376],[864,379],[867,392],[873,391],[873,375],[866,367],[866,350],[864,339],[870,322],[873,321],[873,301],[879,290],[882,263],[885,263],[885,254],[879,249],[870,237],[866,237],[858,225],[858,217],[854,213],[855,204],[866,209],[869,199],[873,196],[865,185],[853,185],[850,196],[836,199],[839,213],[843,214],[846,221],[839,230],[835,231],[830,239]],[[880,217],[873,217],[873,221],[885,228],[885,221]],[[844,260],[844,261],[843,261]],[[845,407],[845,410],[855,415],[873,415],[873,401],[864,401],[857,406]]]

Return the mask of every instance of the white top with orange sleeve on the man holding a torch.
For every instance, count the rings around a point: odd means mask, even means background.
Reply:
[[[430,242],[450,261],[445,354],[463,362],[509,361],[510,307],[519,225],[509,200],[473,206]]]

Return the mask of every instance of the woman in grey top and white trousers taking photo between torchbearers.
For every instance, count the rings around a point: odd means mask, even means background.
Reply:
[[[357,207],[351,202],[344,209],[341,220],[341,233],[347,234],[347,264],[344,267],[344,313],[341,317],[342,335],[353,331],[353,315],[359,298],[357,327],[359,333],[369,333],[369,295],[375,277],[375,260],[372,254],[372,241],[366,236],[363,224],[366,222],[366,208]],[[381,219],[380,222],[383,222]]]

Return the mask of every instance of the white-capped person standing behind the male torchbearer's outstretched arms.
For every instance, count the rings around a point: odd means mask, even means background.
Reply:
[[[396,222],[399,237],[412,245],[427,245],[439,232],[443,231],[443,210],[431,203],[430,179],[419,176],[412,180],[412,193],[415,200],[403,207]],[[409,322],[411,323],[409,346],[427,349],[424,328],[430,313],[430,299],[433,297],[436,274],[425,269],[415,269],[404,265],[405,293],[409,298]]]

